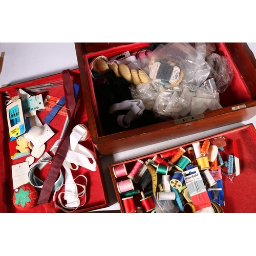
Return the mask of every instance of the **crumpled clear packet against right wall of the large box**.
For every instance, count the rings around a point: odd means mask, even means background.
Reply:
[[[231,84],[233,79],[233,69],[228,58],[217,53],[206,56],[206,61],[210,66],[209,78],[214,78],[218,92],[223,93]]]

